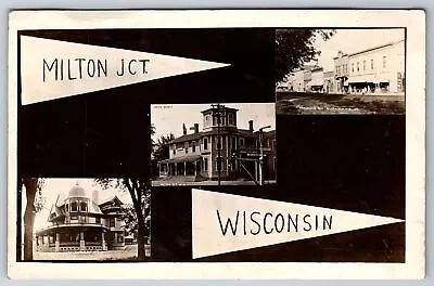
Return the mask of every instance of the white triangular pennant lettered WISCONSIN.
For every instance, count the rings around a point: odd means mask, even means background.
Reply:
[[[193,259],[403,221],[192,190]]]

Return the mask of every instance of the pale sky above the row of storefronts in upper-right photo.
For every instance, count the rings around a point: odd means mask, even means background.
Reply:
[[[318,65],[322,66],[324,72],[332,72],[333,57],[339,50],[354,53],[404,38],[404,29],[336,29],[336,34],[327,41],[317,37],[314,46],[321,51]]]

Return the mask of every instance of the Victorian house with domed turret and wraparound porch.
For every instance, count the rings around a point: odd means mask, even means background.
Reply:
[[[36,232],[38,251],[91,251],[125,249],[123,202],[117,196],[99,199],[78,184],[61,192],[52,205],[51,225]]]

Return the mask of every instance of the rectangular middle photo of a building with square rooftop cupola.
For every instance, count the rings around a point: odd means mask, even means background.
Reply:
[[[152,185],[276,183],[275,103],[151,105]]]

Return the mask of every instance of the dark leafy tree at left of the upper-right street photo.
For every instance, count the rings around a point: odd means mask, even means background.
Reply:
[[[286,75],[321,54],[314,46],[318,36],[326,41],[334,34],[335,30],[330,29],[277,29],[275,82],[284,80]]]

